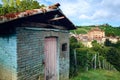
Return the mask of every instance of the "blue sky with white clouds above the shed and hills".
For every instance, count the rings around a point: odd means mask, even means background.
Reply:
[[[1,1],[1,0],[0,0]],[[60,9],[75,25],[120,26],[120,0],[37,0],[47,6],[60,3]]]

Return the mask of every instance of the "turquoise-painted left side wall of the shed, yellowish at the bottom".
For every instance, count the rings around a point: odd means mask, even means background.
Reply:
[[[0,80],[17,80],[16,36],[0,37]]]

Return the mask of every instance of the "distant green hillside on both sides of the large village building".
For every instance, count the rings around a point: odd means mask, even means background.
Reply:
[[[91,28],[95,26],[77,26],[77,29],[71,31],[76,34],[86,34]],[[110,25],[99,25],[100,29],[105,31],[106,36],[120,36],[120,27],[112,27]]]

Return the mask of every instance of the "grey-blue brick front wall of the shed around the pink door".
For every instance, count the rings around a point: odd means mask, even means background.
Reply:
[[[69,34],[67,31],[41,28],[17,29],[18,80],[44,80],[44,39],[58,38],[57,76],[58,80],[69,77]],[[62,51],[62,44],[67,43],[67,50]]]

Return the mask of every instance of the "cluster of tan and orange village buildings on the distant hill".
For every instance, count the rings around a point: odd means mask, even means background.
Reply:
[[[94,40],[96,40],[100,44],[104,44],[106,39],[109,39],[112,43],[116,43],[120,40],[119,36],[105,36],[105,31],[101,30],[98,26],[91,28],[91,30],[89,30],[87,34],[76,34],[76,32],[74,31],[74,33],[70,33],[70,36],[75,37],[86,47],[92,47],[92,41]]]

